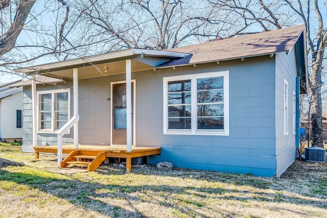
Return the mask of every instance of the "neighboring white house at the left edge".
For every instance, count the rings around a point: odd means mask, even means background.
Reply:
[[[22,87],[12,87],[21,80],[0,86],[0,139],[22,140]]]

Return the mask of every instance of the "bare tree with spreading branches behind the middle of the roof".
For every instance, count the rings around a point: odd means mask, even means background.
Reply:
[[[197,2],[200,3],[200,2]],[[84,33],[81,41],[101,42],[96,50],[131,47],[168,49],[235,35],[239,22],[229,11],[191,0],[88,0],[77,7]],[[89,50],[90,51],[90,50]]]

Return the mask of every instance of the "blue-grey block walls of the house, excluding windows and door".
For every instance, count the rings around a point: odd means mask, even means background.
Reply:
[[[294,60],[293,60],[294,59]],[[149,163],[170,161],[175,167],[259,176],[283,173],[294,161],[291,98],[295,86],[294,52],[244,61],[222,61],[133,72],[136,81],[136,145],[160,146],[161,155]],[[284,67],[284,65],[286,65]],[[163,78],[204,72],[229,71],[229,135],[164,134]],[[289,135],[284,135],[284,78],[289,84]],[[125,74],[79,80],[79,143],[110,144],[110,83],[125,80]],[[65,87],[72,87],[66,84]],[[40,89],[62,87],[37,86]],[[31,123],[31,90],[26,87],[24,126]],[[73,98],[71,98],[73,99]],[[73,102],[71,102],[73,103]],[[71,110],[73,105],[71,105]],[[29,119],[27,119],[29,117]],[[31,127],[31,126],[30,126]],[[72,142],[72,133],[65,143]],[[40,134],[38,144],[55,144],[56,134]],[[24,149],[32,145],[31,128],[24,128]]]

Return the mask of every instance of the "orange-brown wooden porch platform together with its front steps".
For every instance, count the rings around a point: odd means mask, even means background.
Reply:
[[[57,146],[36,146],[34,147],[35,158],[39,158],[39,153],[57,154]],[[160,154],[161,148],[156,147],[133,147],[132,151],[127,151],[126,146],[105,146],[105,145],[79,145],[78,149],[74,145],[63,145],[62,153],[68,156],[61,161],[60,167],[69,164],[87,165],[88,171],[94,171],[105,160],[106,157],[126,158],[126,171],[131,172],[133,157],[143,157]],[[92,159],[92,161],[81,161],[81,159]]]

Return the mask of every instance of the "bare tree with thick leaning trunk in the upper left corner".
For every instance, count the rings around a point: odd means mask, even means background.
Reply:
[[[0,0],[0,70],[12,69],[45,56],[63,59],[61,53],[76,49],[66,29],[69,0]]]

